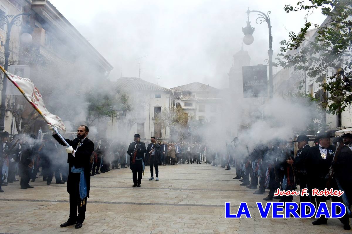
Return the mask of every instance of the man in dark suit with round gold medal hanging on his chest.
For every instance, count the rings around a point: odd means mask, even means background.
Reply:
[[[309,149],[306,159],[308,181],[312,188],[324,190],[329,178],[329,168],[334,158],[335,147],[330,145],[330,136],[326,132],[320,132],[316,137],[319,145]],[[332,197],[333,198],[333,197]],[[326,196],[315,196],[316,207],[320,202],[326,202]],[[346,215],[345,215],[346,216]],[[348,216],[340,218],[344,224],[344,228],[350,227]],[[312,222],[313,225],[327,224],[327,218],[321,216],[319,219]]]

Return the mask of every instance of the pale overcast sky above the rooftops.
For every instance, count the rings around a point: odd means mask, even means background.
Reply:
[[[240,50],[246,26],[247,7],[271,11],[274,55],[279,42],[288,38],[287,31],[298,32],[304,24],[304,13],[285,13],[286,3],[298,0],[50,0],[73,26],[114,67],[110,79],[138,77],[171,88],[191,82],[202,82],[216,88],[228,85],[232,55]],[[97,4],[99,3],[99,4]],[[255,27],[249,51],[251,65],[268,58],[268,25]],[[320,11],[310,15],[320,24]],[[274,73],[276,72],[274,68]],[[160,78],[158,80],[157,78]]]

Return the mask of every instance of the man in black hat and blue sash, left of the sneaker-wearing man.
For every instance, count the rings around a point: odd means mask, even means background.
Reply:
[[[140,187],[142,173],[145,168],[144,153],[146,152],[144,142],[140,142],[139,134],[134,134],[134,141],[128,146],[127,154],[130,155],[130,169],[132,170],[132,187]],[[134,153],[136,152],[136,157]],[[138,177],[137,177],[138,174]]]

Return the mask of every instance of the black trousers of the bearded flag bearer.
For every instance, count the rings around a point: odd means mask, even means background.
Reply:
[[[86,207],[87,207],[87,197],[83,200],[80,198],[80,175],[81,173],[71,173],[70,175],[70,183],[73,186],[75,191],[70,192],[70,222],[79,222],[83,223],[84,218],[86,217]],[[82,206],[81,206],[82,202]],[[77,215],[77,207],[78,207],[78,215]]]

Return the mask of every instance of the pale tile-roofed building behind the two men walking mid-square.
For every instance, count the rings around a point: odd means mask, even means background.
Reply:
[[[126,116],[110,119],[107,138],[133,138],[135,133],[142,139],[149,139],[151,136],[158,139],[170,138],[170,129],[168,127],[161,129],[160,125],[155,124],[155,117],[163,109],[176,106],[176,98],[171,89],[140,78],[120,78],[112,83],[122,93],[128,95],[132,109]],[[122,134],[121,129],[125,129],[127,133]]]

